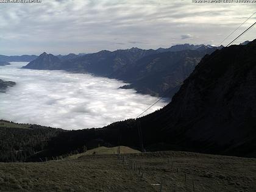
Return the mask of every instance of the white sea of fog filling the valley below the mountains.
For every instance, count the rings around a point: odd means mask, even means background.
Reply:
[[[124,82],[91,74],[21,69],[27,62],[0,66],[0,79],[16,82],[0,93],[0,119],[63,129],[102,127],[135,118],[158,98],[124,90]],[[148,110],[166,105],[158,102]],[[144,114],[146,115],[146,113]]]

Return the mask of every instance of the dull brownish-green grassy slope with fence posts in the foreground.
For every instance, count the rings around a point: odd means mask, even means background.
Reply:
[[[256,159],[189,152],[124,154],[143,168],[143,178],[117,155],[76,160],[0,163],[0,191],[255,191]],[[186,182],[185,182],[186,173]]]

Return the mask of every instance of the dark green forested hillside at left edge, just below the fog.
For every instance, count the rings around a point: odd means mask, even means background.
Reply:
[[[0,162],[25,162],[62,129],[0,120]]]

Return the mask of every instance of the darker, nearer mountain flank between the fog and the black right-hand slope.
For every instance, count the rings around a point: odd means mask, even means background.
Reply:
[[[135,88],[139,93],[171,98],[202,57],[215,50],[209,48],[152,54],[128,65],[126,69],[119,69],[111,77],[131,83],[123,88]]]

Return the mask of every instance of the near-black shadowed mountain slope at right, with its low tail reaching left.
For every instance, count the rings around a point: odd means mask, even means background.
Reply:
[[[140,119],[60,133],[55,152],[126,145],[256,157],[256,40],[206,55],[172,102]],[[139,127],[141,127],[138,132]]]

